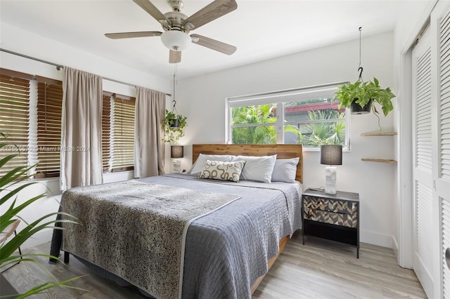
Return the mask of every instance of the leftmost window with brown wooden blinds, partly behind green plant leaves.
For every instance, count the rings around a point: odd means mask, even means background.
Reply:
[[[34,178],[58,176],[60,171],[62,82],[0,69],[0,132],[11,146],[0,157],[19,153],[2,167],[1,175],[16,166],[37,167]]]

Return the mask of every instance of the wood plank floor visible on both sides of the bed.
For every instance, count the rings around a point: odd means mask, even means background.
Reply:
[[[48,253],[49,243],[29,252]],[[145,298],[136,288],[123,288],[98,277],[75,258],[68,265],[42,265],[58,279],[86,276],[72,288],[52,288],[50,293],[33,298]],[[18,291],[48,280],[43,269],[32,263],[20,263],[4,272]],[[307,238],[302,245],[300,232],[294,234],[271,270],[252,296],[269,298],[426,298],[416,274],[397,265],[390,248],[361,244],[359,259],[356,249],[320,239]]]

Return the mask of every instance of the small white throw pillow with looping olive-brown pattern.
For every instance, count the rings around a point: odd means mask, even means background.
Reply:
[[[232,180],[239,182],[240,173],[245,161],[222,162],[206,160],[198,178],[212,178],[214,180]]]

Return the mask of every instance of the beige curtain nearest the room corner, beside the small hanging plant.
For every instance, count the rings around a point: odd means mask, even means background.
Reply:
[[[134,177],[164,174],[165,93],[136,87]]]

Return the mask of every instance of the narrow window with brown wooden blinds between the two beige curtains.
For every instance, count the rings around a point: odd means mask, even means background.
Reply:
[[[103,171],[134,169],[135,98],[103,92]]]

